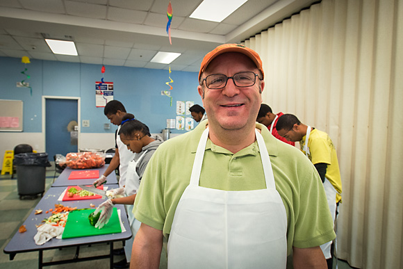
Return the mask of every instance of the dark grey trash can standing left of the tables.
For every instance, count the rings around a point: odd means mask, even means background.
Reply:
[[[24,195],[43,196],[46,168],[51,166],[47,153],[20,153],[14,156],[14,164],[19,199]]]

